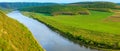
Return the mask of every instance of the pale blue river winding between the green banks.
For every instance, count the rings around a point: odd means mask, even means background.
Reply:
[[[28,18],[19,11],[13,11],[7,15],[24,24],[46,51],[98,51],[73,43],[59,33],[52,31],[43,23]]]

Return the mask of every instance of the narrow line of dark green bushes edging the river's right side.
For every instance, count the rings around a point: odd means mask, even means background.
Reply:
[[[24,14],[24,13],[23,13],[23,14]],[[24,15],[25,15],[25,14],[24,14]],[[107,50],[108,50],[108,51],[119,50],[119,48],[113,48],[112,46],[109,46],[109,45],[107,45],[107,44],[101,44],[101,43],[98,43],[98,42],[95,42],[95,41],[92,41],[92,40],[88,40],[88,39],[84,39],[84,38],[81,39],[80,37],[75,37],[75,36],[73,36],[71,33],[69,33],[69,32],[64,32],[64,31],[62,31],[62,30],[60,30],[60,29],[58,29],[58,28],[50,25],[49,23],[45,22],[44,20],[38,19],[37,17],[35,17],[35,16],[33,16],[33,15],[26,15],[26,16],[32,16],[32,17],[30,17],[30,18],[33,18],[33,19],[35,19],[35,20],[38,20],[38,21],[44,23],[44,24],[47,25],[49,28],[51,28],[52,30],[55,30],[55,31],[59,32],[61,35],[67,37],[68,39],[74,39],[74,40],[76,40],[76,41],[78,40],[78,41],[82,42],[85,46],[89,46],[89,45],[90,45],[91,48],[102,49],[102,50],[105,50],[105,51],[107,51]],[[99,33],[101,33],[101,32],[99,32]],[[86,41],[86,40],[87,40],[87,41]],[[91,42],[91,43],[90,43],[90,42]],[[99,46],[98,46],[98,45],[99,45]]]

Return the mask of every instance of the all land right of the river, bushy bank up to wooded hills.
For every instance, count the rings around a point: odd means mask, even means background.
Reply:
[[[61,35],[68,39],[77,40],[92,48],[119,51],[120,10],[118,8],[119,6],[112,2],[80,2],[20,10],[24,15],[61,32]]]

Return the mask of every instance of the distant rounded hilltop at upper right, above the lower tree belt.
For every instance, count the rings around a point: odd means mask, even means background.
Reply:
[[[114,8],[117,4],[113,2],[76,2],[69,5],[79,5],[85,8]]]

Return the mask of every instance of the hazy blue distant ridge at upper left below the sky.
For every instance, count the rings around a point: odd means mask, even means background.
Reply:
[[[4,8],[24,8],[24,7],[32,7],[32,6],[50,6],[57,5],[57,3],[35,3],[35,2],[1,2],[0,7]]]

